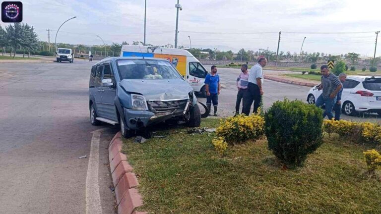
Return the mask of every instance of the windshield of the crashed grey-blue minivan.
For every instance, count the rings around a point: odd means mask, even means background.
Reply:
[[[165,60],[121,59],[117,61],[121,79],[181,79],[179,72]]]

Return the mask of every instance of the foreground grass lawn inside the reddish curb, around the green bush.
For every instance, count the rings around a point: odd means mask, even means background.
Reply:
[[[203,119],[216,127],[219,120]],[[184,126],[157,128],[143,144],[125,139],[123,151],[138,175],[142,211],[160,214],[380,213],[381,182],[369,178],[368,147],[324,139],[304,167],[282,170],[266,140],[229,147],[220,157],[214,133]]]

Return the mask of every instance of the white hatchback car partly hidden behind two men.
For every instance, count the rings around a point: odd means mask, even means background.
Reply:
[[[315,104],[322,91],[318,86],[310,89],[307,102]],[[357,112],[375,112],[381,115],[381,77],[347,76],[341,96],[342,112],[355,115]]]

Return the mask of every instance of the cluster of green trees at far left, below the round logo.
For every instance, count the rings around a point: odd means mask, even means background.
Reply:
[[[28,56],[39,47],[38,35],[32,26],[28,24],[14,23],[4,28],[0,26],[0,47],[2,54],[5,48],[10,50],[10,55],[15,57],[17,50],[25,52]]]

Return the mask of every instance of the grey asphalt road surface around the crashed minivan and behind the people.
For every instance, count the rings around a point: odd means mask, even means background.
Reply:
[[[90,124],[87,92],[92,64],[0,63],[0,213],[82,214],[89,206],[114,213],[106,148],[119,128]],[[240,70],[218,72],[223,83],[220,115],[233,115]],[[285,97],[305,100],[308,90],[265,80],[264,105]],[[375,115],[345,118],[380,122]],[[99,152],[92,154],[98,157],[98,167],[88,170],[90,148]],[[98,179],[91,179],[94,176]],[[99,195],[86,195],[89,192]]]

